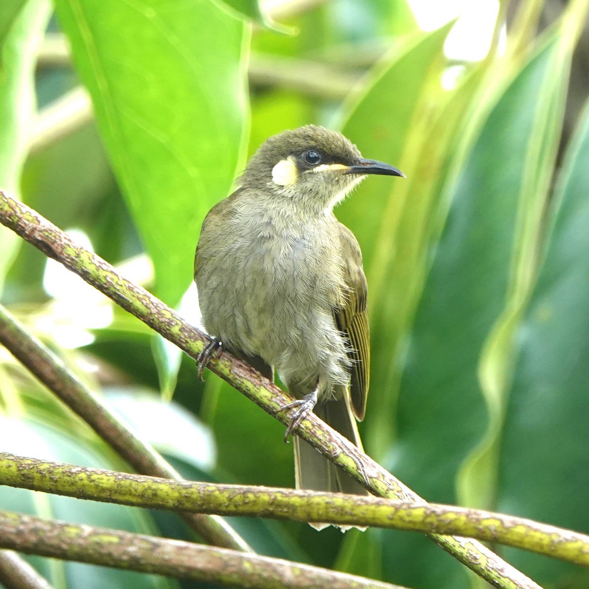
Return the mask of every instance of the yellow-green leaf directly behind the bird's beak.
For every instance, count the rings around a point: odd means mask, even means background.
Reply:
[[[379,458],[388,451],[392,441],[393,424],[388,415],[393,411],[394,398],[391,395],[389,372],[391,358],[395,356],[395,340],[402,311],[397,307],[395,314],[383,313],[391,290],[397,283],[388,284],[391,276],[396,235],[403,207],[412,211],[424,211],[431,200],[427,190],[409,193],[409,184],[419,180],[418,166],[424,149],[424,138],[433,122],[431,109],[425,104],[436,101],[443,104],[439,78],[445,64],[443,47],[451,25],[429,35],[421,35],[411,42],[400,54],[393,54],[375,68],[372,83],[364,91],[343,127],[343,133],[354,141],[365,157],[383,160],[401,168],[405,178],[368,178],[358,191],[352,194],[336,215],[357,237],[362,249],[363,264],[368,279],[368,296],[371,326],[371,372],[379,375],[370,384],[366,428],[369,451]],[[399,92],[398,88],[403,88]],[[383,118],[383,113],[390,113]],[[441,135],[440,135],[441,136]],[[429,146],[426,146],[429,147]],[[426,160],[435,168],[434,158],[429,150]],[[432,178],[431,169],[428,174]],[[416,229],[412,235],[422,232],[420,219],[415,219]],[[415,275],[414,263],[408,280]],[[399,286],[405,284],[397,276]],[[402,289],[406,297],[406,289]],[[374,405],[373,405],[374,403]],[[378,406],[375,415],[370,406]],[[372,415],[371,415],[372,413]]]

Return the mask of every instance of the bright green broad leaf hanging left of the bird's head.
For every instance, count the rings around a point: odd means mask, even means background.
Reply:
[[[204,215],[227,196],[239,167],[247,27],[210,0],[55,5],[153,258],[155,290],[176,305],[192,279]]]

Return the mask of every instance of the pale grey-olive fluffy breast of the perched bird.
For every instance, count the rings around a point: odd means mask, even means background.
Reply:
[[[273,365],[293,350],[339,346],[332,309],[345,284],[331,227],[259,216],[229,223],[225,233],[202,254],[206,270],[197,279],[210,333]]]

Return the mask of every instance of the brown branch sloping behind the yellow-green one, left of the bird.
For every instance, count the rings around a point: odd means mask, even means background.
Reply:
[[[0,343],[137,472],[177,481],[182,479],[173,466],[109,412],[97,395],[72,375],[51,350],[31,336],[1,305]],[[219,517],[184,514],[183,518],[209,544],[251,551],[247,542]]]

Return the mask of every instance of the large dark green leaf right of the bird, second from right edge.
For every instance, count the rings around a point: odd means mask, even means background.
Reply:
[[[456,472],[487,428],[478,358],[504,308],[518,215],[529,212],[526,206],[537,212],[526,183],[535,182],[538,141],[558,128],[555,119],[538,130],[545,100],[561,95],[552,69],[557,40],[525,65],[484,122],[455,185],[416,311],[396,415],[389,416],[398,439],[385,466],[428,501],[456,502]],[[538,194],[540,201],[544,196]],[[466,585],[464,572],[421,538],[383,532],[383,550],[388,580],[435,587],[442,575],[449,586]],[[392,563],[416,555],[435,565],[395,577]]]

